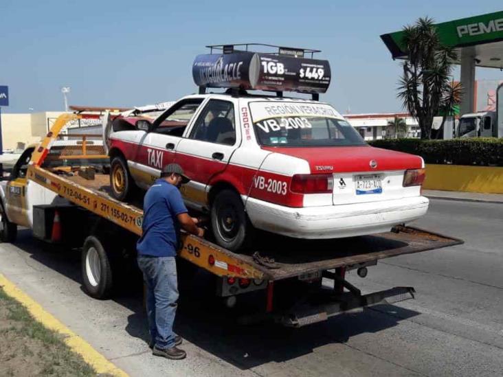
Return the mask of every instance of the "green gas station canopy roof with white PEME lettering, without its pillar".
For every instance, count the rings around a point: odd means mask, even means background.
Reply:
[[[503,11],[435,25],[440,41],[454,47],[461,57],[469,54],[478,67],[503,68]],[[381,35],[394,59],[407,58],[401,43],[403,32]]]

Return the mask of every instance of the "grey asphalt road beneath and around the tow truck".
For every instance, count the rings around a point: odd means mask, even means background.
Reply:
[[[132,376],[502,376],[503,205],[432,200],[416,226],[465,244],[349,276],[364,292],[414,286],[416,299],[299,330],[237,325],[198,276],[177,316],[184,361],[150,355],[141,290],[109,301],[82,292],[77,252],[22,231],[0,245],[0,273]]]

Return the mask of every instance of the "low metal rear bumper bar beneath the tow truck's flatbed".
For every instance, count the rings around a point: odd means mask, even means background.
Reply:
[[[301,328],[343,313],[363,311],[377,304],[394,304],[413,299],[415,292],[412,287],[394,287],[368,295],[346,292],[337,297],[326,297],[326,302],[296,306],[282,315],[276,315],[275,321],[287,327]]]

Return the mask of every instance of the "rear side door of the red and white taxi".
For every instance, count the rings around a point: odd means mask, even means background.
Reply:
[[[175,161],[191,179],[182,194],[195,207],[206,204],[210,179],[225,170],[241,141],[236,107],[232,100],[209,100],[177,146]]]

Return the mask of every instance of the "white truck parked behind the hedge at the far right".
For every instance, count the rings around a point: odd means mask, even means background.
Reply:
[[[503,137],[503,84],[496,89],[495,110],[462,115],[456,137]]]

